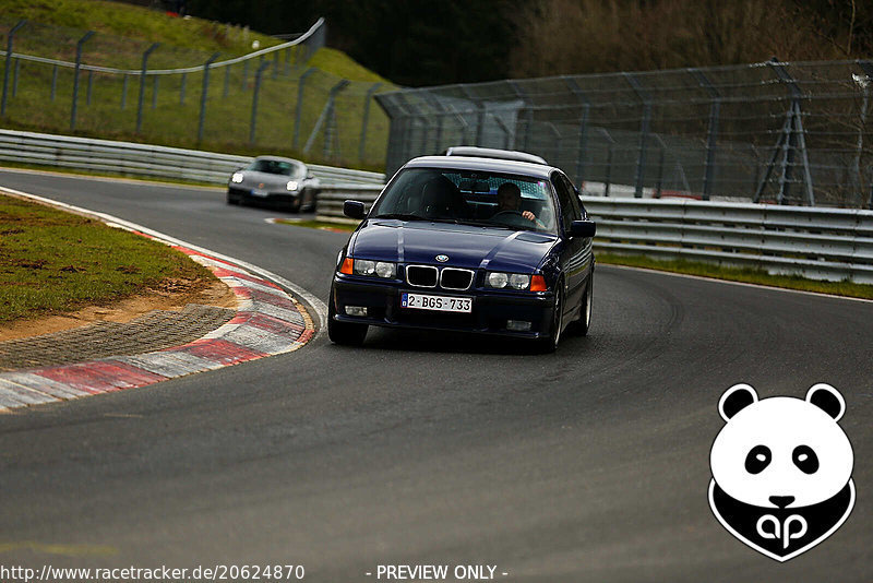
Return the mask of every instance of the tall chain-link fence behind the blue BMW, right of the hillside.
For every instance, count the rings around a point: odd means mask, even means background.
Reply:
[[[386,171],[452,145],[531,152],[588,194],[873,205],[873,63],[777,62],[379,95]]]

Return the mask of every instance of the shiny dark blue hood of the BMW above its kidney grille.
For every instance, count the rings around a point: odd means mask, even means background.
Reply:
[[[349,250],[359,259],[530,273],[555,242],[554,235],[527,230],[369,219],[352,236]],[[449,261],[438,262],[440,254]]]

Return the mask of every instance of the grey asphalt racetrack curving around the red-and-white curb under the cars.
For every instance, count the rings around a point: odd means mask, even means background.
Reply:
[[[215,190],[0,171],[326,301],[346,234],[268,224]],[[0,562],[490,564],[504,581],[873,580],[873,302],[601,265],[554,355],[371,330],[152,386],[0,416]],[[707,504],[718,398],[749,382],[847,402],[856,509],[778,563]],[[366,573],[372,573],[367,575]],[[506,572],[507,575],[501,573]],[[384,579],[383,579],[384,580]]]

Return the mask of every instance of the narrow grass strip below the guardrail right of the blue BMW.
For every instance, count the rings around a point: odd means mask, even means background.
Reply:
[[[847,281],[820,282],[817,279],[808,279],[800,275],[773,275],[764,270],[751,267],[730,267],[701,261],[687,261],[684,259],[658,260],[645,255],[622,255],[603,252],[597,253],[597,262],[613,265],[629,265],[632,267],[646,267],[671,273],[684,273],[687,275],[699,275],[702,277],[713,277],[715,279],[728,279],[730,282],[743,282],[770,287],[782,287],[786,289],[814,291],[816,294],[833,294],[835,296],[873,299],[873,285],[856,284]]]

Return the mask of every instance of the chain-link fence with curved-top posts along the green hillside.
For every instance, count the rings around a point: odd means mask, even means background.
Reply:
[[[340,165],[385,158],[387,118],[371,102],[393,87],[311,67],[323,20],[244,55],[27,21],[0,19],[0,31],[7,127]],[[248,28],[213,24],[210,34],[258,48]]]

